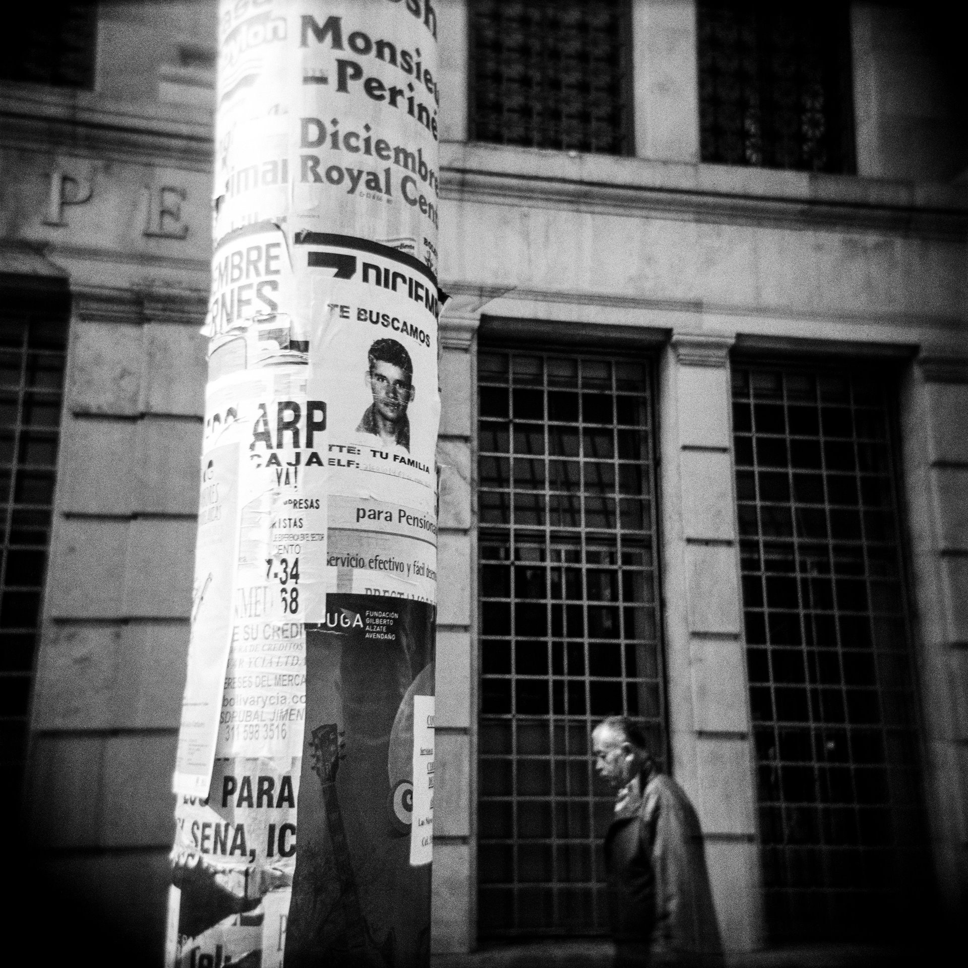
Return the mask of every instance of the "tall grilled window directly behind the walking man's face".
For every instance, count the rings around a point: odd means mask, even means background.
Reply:
[[[478,382],[480,934],[597,933],[590,729],[665,759],[649,367],[482,349]]]

